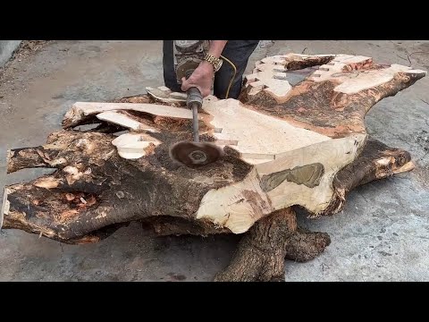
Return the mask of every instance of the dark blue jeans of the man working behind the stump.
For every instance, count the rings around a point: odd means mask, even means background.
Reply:
[[[163,46],[163,67],[164,84],[172,91],[181,92],[181,85],[177,83],[174,72],[174,62],[172,57],[173,40],[164,40]],[[228,98],[238,98],[243,84],[243,73],[248,65],[248,57],[257,48],[259,40],[228,40],[223,48],[222,55],[228,58],[235,65],[237,73],[232,82]],[[223,61],[221,69],[214,74],[214,96],[220,99],[226,98],[226,92],[230,85],[234,70],[227,61]]]

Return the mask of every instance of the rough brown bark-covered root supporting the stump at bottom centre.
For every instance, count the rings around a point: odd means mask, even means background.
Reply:
[[[239,244],[231,264],[214,277],[216,282],[284,281],[284,258],[307,261],[329,246],[327,233],[299,229],[292,208],[259,220]]]

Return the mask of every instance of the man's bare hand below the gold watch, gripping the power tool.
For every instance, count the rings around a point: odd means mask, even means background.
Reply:
[[[187,91],[192,87],[196,87],[201,92],[201,95],[206,97],[210,95],[213,77],[213,65],[206,61],[201,62],[188,80],[184,77],[181,79],[181,90]]]

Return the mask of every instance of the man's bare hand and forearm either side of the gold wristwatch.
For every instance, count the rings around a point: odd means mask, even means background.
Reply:
[[[210,40],[210,48],[208,53],[219,58],[222,55],[223,47],[225,47],[228,40]],[[214,67],[212,64],[203,61],[198,65],[196,70],[186,80],[184,77],[181,79],[181,90],[187,91],[191,87],[196,87],[201,92],[203,97],[210,95],[212,82],[214,78]]]

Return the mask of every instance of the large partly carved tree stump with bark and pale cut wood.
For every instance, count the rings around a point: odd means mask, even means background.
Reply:
[[[267,57],[240,99],[205,98],[200,140],[224,154],[196,168],[169,157],[174,143],[192,140],[185,94],[160,87],[77,102],[46,144],[9,151],[8,173],[55,171],[5,187],[0,225],[71,244],[131,221],[157,235],[242,234],[214,280],[282,281],[284,258],[305,262],[331,242],[299,228],[293,207],[311,218],[336,214],[358,185],[414,168],[407,151],[368,138],[364,118],[425,74],[358,55]]]

